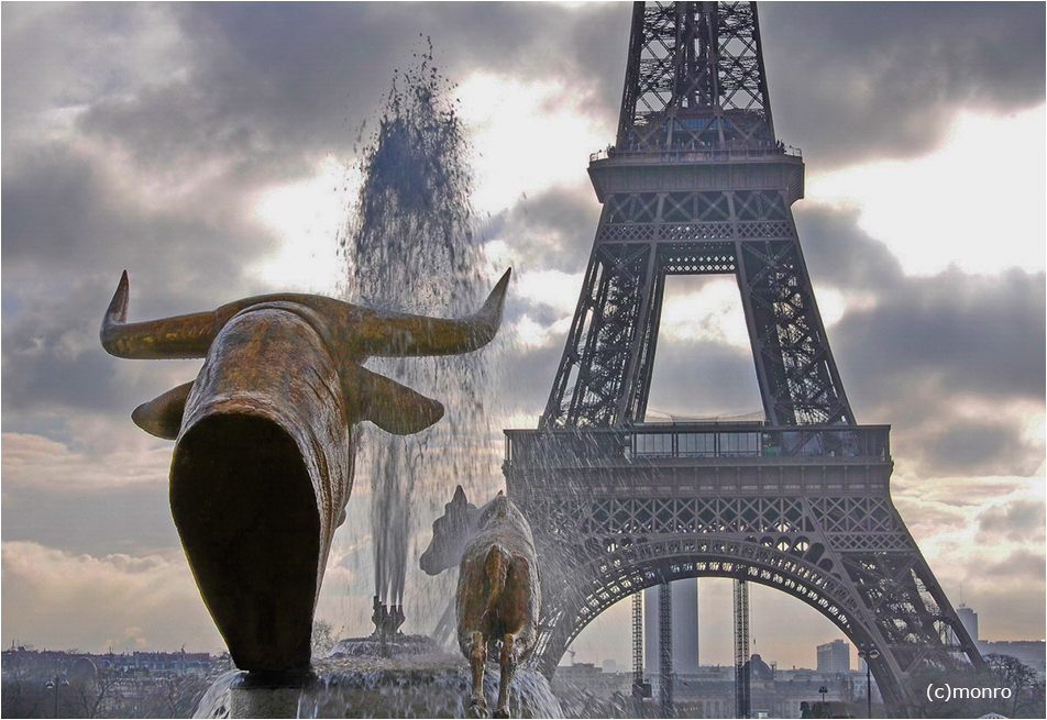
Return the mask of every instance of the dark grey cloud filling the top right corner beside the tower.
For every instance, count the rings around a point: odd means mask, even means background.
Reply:
[[[1044,101],[1039,2],[760,5],[775,130],[820,168],[915,157],[957,110]]]

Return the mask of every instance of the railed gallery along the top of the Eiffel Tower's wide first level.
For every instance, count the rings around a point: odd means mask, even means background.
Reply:
[[[525,466],[701,458],[863,458],[889,462],[890,425],[637,424],[506,430],[506,461]]]

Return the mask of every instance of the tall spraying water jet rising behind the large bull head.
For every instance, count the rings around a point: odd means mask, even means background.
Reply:
[[[362,304],[453,317],[473,312],[487,291],[484,255],[473,237],[467,143],[445,100],[447,85],[431,54],[421,55],[395,79],[364,153],[356,212],[341,236],[345,296]],[[405,603],[408,568],[417,569],[417,544],[427,541],[416,536],[441,513],[455,484],[489,485],[497,473],[491,450],[497,429],[486,412],[493,352],[370,363],[447,409],[417,435],[361,430],[356,475],[371,483],[374,595],[389,607]],[[450,601],[448,580],[436,585],[408,599],[409,614],[429,614],[412,618],[426,631]]]

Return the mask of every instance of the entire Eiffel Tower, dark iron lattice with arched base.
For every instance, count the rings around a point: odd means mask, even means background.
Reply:
[[[506,430],[543,672],[618,600],[712,576],[778,588],[875,650],[892,715],[919,711],[919,673],[984,668],[891,500],[890,428],[857,424],[844,391],[756,3],[635,4],[617,139],[588,173],[603,209],[563,358],[538,429]],[[646,422],[665,278],[710,274],[737,279],[764,420]]]

